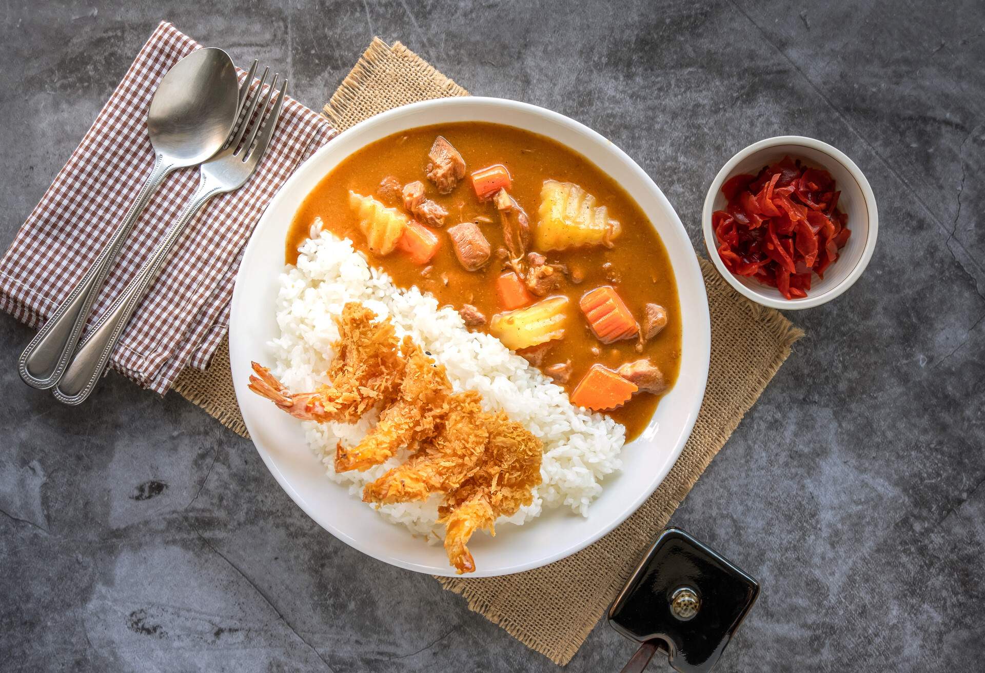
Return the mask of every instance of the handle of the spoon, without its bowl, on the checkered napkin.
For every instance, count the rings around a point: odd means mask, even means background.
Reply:
[[[34,388],[46,389],[58,383],[68,365],[69,356],[79,343],[86,320],[93,309],[93,303],[102,289],[106,274],[123,245],[123,239],[130,233],[137,218],[144,211],[151,195],[157,191],[164,177],[175,167],[174,163],[162,155],[154,160],[154,169],[140,188],[123,222],[110,236],[109,241],[99,252],[99,256],[82,277],[68,298],[62,302],[47,322],[34,335],[31,343],[24,349],[17,362],[17,369],[24,382]]]

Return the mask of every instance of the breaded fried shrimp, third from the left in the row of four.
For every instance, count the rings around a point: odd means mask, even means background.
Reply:
[[[447,416],[437,435],[403,465],[393,468],[362,490],[365,503],[408,503],[427,500],[432,493],[447,493],[468,479],[482,458],[489,439],[490,416],[482,409],[482,395],[474,390],[448,396]]]

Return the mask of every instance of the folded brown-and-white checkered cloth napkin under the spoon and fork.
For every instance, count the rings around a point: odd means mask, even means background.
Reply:
[[[65,300],[154,166],[146,120],[158,82],[199,48],[168,23],[151,35],[0,259],[0,308],[38,327]],[[245,73],[239,71],[239,77],[242,81]],[[274,193],[334,134],[324,117],[285,100],[253,176],[242,188],[213,199],[172,249],[113,351],[113,369],[163,394],[185,367],[209,365],[229,326],[232,285],[246,240]],[[90,324],[136,275],[197,185],[197,168],[167,177],[127,236]]]

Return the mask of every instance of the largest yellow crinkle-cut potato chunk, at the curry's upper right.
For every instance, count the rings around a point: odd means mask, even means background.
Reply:
[[[544,180],[538,214],[536,240],[542,250],[585,245],[612,247],[622,231],[619,222],[610,219],[608,208],[571,182]]]

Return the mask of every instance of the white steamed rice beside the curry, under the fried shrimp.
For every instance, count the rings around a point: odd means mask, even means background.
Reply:
[[[488,334],[470,332],[457,311],[439,308],[417,288],[401,290],[383,272],[372,268],[348,239],[322,232],[300,248],[296,266],[280,278],[277,321],[281,336],[272,342],[275,372],[290,389],[311,390],[325,382],[339,333],[333,317],[348,302],[361,302],[378,317],[389,317],[397,335],[419,343],[445,366],[455,390],[478,390],[487,408],[502,409],[544,442],[543,483],[534,501],[509,518],[521,525],[545,508],[566,506],[587,515],[588,505],[602,492],[602,478],[620,469],[625,429],[601,414],[571,405],[550,378],[512,354]],[[406,458],[401,451],[365,472],[336,473],[335,447],[359,442],[376,421],[370,413],[356,425],[305,422],[309,447],[321,458],[333,481],[349,486],[361,498],[362,487]],[[439,498],[427,503],[383,505],[380,513],[430,540],[441,536],[436,523]]]

